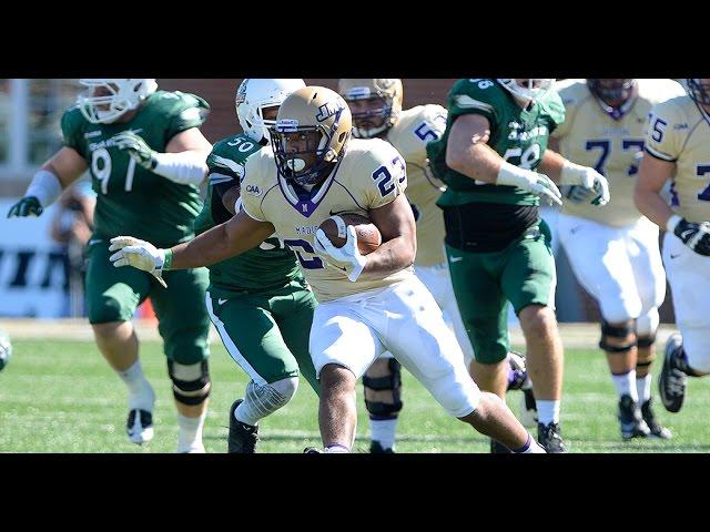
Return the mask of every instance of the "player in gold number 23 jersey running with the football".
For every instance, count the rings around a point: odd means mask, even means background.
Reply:
[[[402,155],[381,140],[351,140],[351,112],[336,92],[295,91],[278,110],[272,150],[246,161],[243,212],[169,249],[114,238],[111,259],[160,276],[239,255],[276,233],[296,253],[318,299],[310,350],[326,452],[351,451],[356,380],[385,350],[452,416],[516,452],[541,452],[500,398],[478,390],[440,309],[413,274],[416,227],[403,194]],[[368,216],[384,244],[363,256],[355,229],[343,224],[346,243],[335,247],[320,225],[337,213]]]

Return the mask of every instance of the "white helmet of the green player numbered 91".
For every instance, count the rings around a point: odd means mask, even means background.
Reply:
[[[77,105],[81,114],[92,124],[110,124],[123,113],[136,109],[143,100],[158,90],[155,79],[79,80],[87,90],[77,98]],[[94,95],[97,89],[102,88],[102,94]]]

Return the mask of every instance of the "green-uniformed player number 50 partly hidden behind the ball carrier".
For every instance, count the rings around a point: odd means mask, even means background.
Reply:
[[[240,208],[246,158],[268,144],[267,125],[275,121],[281,102],[302,86],[303,80],[241,83],[236,114],[244,133],[217,142],[207,157],[210,187],[195,222],[197,234],[226,222]],[[258,420],[291,400],[300,372],[318,392],[308,352],[317,303],[294,253],[272,236],[260,247],[210,266],[206,305],[224,347],[251,377],[244,399],[230,410],[227,450],[254,452]]]

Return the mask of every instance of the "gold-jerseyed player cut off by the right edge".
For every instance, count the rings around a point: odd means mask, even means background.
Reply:
[[[687,95],[649,114],[633,195],[639,211],[666,229],[663,264],[681,332],[668,339],[658,379],[670,412],[681,409],[688,377],[710,374],[710,79],[687,85]],[[669,180],[670,205],[661,194]]]

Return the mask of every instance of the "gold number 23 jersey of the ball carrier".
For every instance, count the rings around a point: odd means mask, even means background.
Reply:
[[[326,266],[313,248],[315,233],[325,219],[342,213],[367,216],[369,209],[393,202],[406,186],[406,166],[397,150],[378,139],[352,139],[331,175],[312,192],[300,194],[278,176],[268,147],[248,157],[241,188],[246,214],[274,225],[323,303],[387,287],[414,275],[409,267],[379,279],[352,283],[345,272]]]

